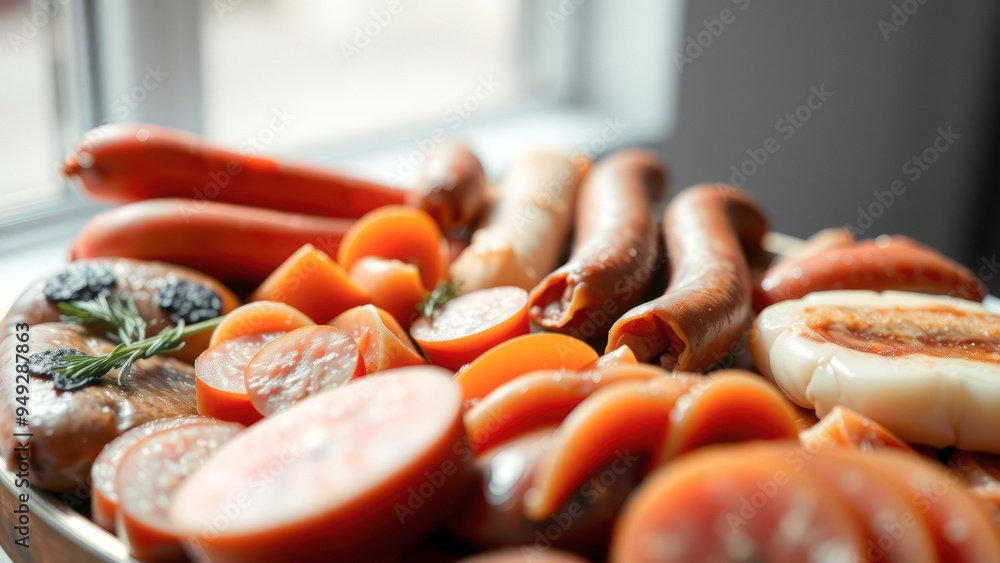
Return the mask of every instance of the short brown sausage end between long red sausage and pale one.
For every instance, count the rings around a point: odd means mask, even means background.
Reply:
[[[426,211],[446,233],[473,226],[489,203],[483,166],[460,144],[439,145],[427,156],[417,185],[407,191],[406,203]]]

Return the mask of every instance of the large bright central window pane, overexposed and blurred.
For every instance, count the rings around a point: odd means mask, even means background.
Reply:
[[[204,0],[205,132],[284,153],[459,124],[529,86],[519,82],[520,8],[509,0]],[[281,130],[269,131],[271,123]]]

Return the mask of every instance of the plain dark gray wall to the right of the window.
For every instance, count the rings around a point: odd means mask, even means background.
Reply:
[[[903,2],[688,2],[687,37],[730,8],[735,21],[681,74],[678,126],[658,149],[675,190],[726,180],[731,165],[773,137],[779,150],[745,183],[771,212],[774,228],[807,236],[858,223],[873,191],[902,179],[896,197],[865,236],[905,233],[973,270],[1000,253],[1000,237],[980,220],[997,216],[994,125],[996,23],[1000,3],[911,0],[917,11],[888,40]],[[898,18],[897,18],[898,21]],[[891,23],[891,21],[890,21]],[[810,86],[834,95],[784,140],[775,123],[805,103]],[[961,135],[911,182],[903,164],[931,146],[938,127]],[[877,208],[876,208],[877,209]],[[993,238],[988,238],[991,235]],[[992,273],[986,270],[987,273]],[[989,280],[1000,292],[1000,272]]]

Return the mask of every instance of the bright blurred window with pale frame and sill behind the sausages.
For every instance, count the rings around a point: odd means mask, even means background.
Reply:
[[[348,167],[381,159],[386,174],[451,136],[494,172],[526,143],[596,156],[662,140],[682,6],[0,0],[0,239],[93,212],[56,170],[108,122]]]

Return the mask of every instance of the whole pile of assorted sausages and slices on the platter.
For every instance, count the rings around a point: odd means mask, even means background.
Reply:
[[[115,126],[64,171],[119,205],[3,321],[31,326],[31,481],[139,559],[1000,560],[1000,316],[909,239],[774,259],[723,184],[661,225],[636,150],[494,191],[448,146],[396,190]],[[67,383],[117,344],[61,320],[95,300],[212,330]]]

